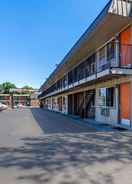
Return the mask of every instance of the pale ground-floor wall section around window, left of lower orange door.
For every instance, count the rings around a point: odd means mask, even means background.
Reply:
[[[115,87],[115,97],[114,97],[114,107],[101,107],[100,106],[100,97],[99,97],[99,88],[96,89],[96,113],[95,120],[103,123],[118,123],[118,104],[119,104],[119,96],[118,96],[118,88]],[[108,110],[109,115],[102,115],[102,110]],[[106,110],[106,111],[107,111]]]

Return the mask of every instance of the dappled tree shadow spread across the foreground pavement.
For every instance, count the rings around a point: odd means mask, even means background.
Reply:
[[[17,180],[114,184],[113,175],[132,164],[132,135],[128,133],[45,134],[22,141],[24,146],[17,148],[0,147],[0,168],[25,171]],[[35,172],[30,173],[32,169]]]

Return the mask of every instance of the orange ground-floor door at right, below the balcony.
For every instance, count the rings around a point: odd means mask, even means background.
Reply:
[[[120,85],[120,123],[130,126],[130,83]]]

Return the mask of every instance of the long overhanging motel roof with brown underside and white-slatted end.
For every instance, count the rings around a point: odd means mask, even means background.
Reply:
[[[46,90],[76,64],[105,44],[132,22],[132,0],[110,0],[95,21],[53,71],[41,90]]]

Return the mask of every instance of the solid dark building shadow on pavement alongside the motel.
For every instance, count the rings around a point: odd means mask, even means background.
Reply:
[[[77,120],[48,110],[31,108],[36,123],[44,133],[80,133],[96,131],[92,126],[78,124]]]

